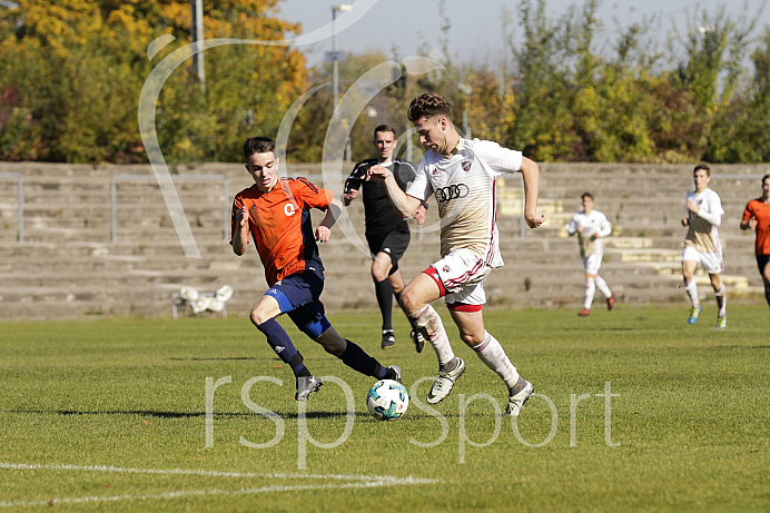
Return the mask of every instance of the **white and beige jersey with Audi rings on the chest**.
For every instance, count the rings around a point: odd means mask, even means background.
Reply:
[[[497,142],[461,139],[451,156],[428,150],[408,196],[436,198],[441,218],[441,255],[467,249],[491,267],[501,267],[497,233],[496,178],[521,169],[521,151]]]

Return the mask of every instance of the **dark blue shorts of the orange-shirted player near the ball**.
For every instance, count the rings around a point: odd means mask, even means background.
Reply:
[[[320,293],[324,290],[324,273],[305,269],[273,285],[266,296],[273,296],[292,322],[310,338],[324,333],[329,324],[324,316]]]

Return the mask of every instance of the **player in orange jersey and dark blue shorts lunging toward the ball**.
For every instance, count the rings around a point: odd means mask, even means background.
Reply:
[[[270,288],[251,310],[250,319],[294,371],[296,399],[307,399],[323,383],[307,369],[302,354],[276,320],[282,314],[287,314],[302,332],[351,368],[377,379],[401,381],[398,367],[383,367],[358,345],[340,337],[324,315],[319,300],[324,265],[316,241],[328,241],[342,209],[339,200],[305,178],[279,177],[275,141],[268,137],[248,138],[244,157],[255,185],[238,193],[233,201],[233,250],[236,255],[245,254],[249,238],[257,246]],[[315,233],[312,208],[326,211]]]

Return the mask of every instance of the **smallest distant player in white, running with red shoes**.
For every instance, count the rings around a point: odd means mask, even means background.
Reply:
[[[585,267],[585,300],[583,309],[578,313],[581,317],[591,315],[591,303],[596,293],[596,288],[606,298],[606,308],[611,310],[615,306],[615,295],[612,294],[604,278],[599,276],[599,268],[602,266],[604,256],[604,243],[602,239],[612,233],[612,225],[606,216],[599,210],[594,210],[594,200],[591,193],[583,193],[583,210],[572,216],[572,220],[566,225],[570,235],[578,235],[580,241],[580,256],[583,257]]]

